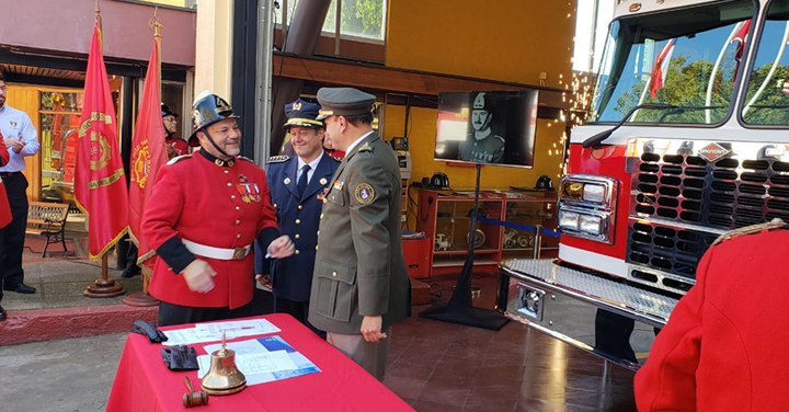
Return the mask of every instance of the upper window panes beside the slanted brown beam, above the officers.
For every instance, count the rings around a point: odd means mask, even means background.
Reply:
[[[299,0],[277,0],[276,24],[282,25],[283,14],[290,24]],[[340,36],[363,42],[382,43],[386,38],[387,0],[332,0],[323,21],[323,35],[336,35],[336,16],[341,16]]]

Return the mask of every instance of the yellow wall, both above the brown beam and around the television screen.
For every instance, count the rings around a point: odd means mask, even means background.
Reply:
[[[539,84],[545,71],[546,85],[559,88],[559,75],[571,73],[574,5],[575,0],[389,1],[386,64],[526,84]],[[386,107],[386,139],[402,136],[404,115],[403,106]],[[411,181],[443,171],[453,188],[472,188],[476,168],[433,160],[436,111],[412,108],[410,116]],[[564,122],[539,119],[535,168],[482,167],[480,187],[534,187],[541,174],[558,185],[563,131]]]

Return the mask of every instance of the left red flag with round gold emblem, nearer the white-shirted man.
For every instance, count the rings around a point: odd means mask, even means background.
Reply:
[[[98,24],[93,26],[88,56],[75,170],[75,198],[77,206],[88,216],[90,258],[99,259],[126,234],[128,190],[118,151],[115,107]]]

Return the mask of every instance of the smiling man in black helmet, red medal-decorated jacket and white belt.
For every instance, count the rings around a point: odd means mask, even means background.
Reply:
[[[282,259],[294,253],[279,236],[265,173],[237,157],[238,116],[203,92],[192,107],[196,153],[162,167],[142,218],[142,236],[159,259],[149,291],[161,300],[159,324],[248,316],[254,291],[252,242]]]

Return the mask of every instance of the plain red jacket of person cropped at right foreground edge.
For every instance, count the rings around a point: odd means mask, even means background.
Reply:
[[[786,411],[789,231],[710,248],[634,380],[648,411]]]

